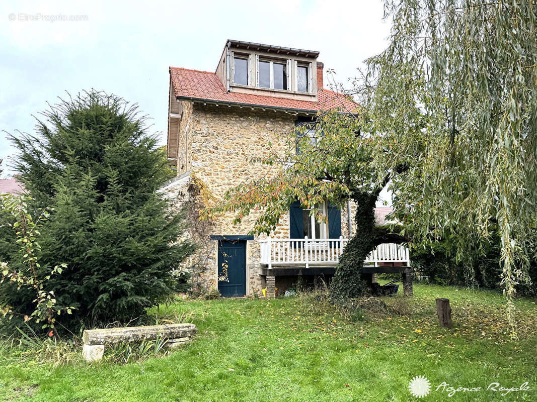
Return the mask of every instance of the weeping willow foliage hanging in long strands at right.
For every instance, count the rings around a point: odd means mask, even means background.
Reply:
[[[537,4],[389,0],[385,13],[389,46],[359,87],[373,165],[406,163],[394,206],[415,241],[456,235],[464,258],[498,231],[512,306],[537,220]]]

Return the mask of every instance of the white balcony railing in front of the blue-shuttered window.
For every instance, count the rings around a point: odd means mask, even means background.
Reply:
[[[349,239],[268,239],[259,240],[260,263],[268,265],[336,265]],[[380,244],[367,257],[366,264],[406,263],[410,265],[408,248],[400,244]]]

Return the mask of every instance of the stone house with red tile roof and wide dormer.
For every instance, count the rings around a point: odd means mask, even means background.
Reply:
[[[273,150],[281,150],[278,133],[319,110],[355,110],[351,99],[324,88],[318,56],[313,50],[228,40],[215,71],[170,67],[167,149],[177,177],[161,191],[177,197],[178,206],[187,199],[220,199],[240,183],[277,171],[249,160],[267,155],[269,140]],[[223,296],[266,288],[270,297],[297,278],[329,278],[353,235],[354,209],[350,202],[342,211],[321,209],[328,224],[292,205],[270,237],[249,235],[259,216],[255,211],[240,225],[233,224],[233,214],[222,214],[204,230],[192,229],[204,244],[197,256],[204,267],[201,281]],[[373,265],[392,260],[408,262],[408,251],[382,245],[371,256]]]

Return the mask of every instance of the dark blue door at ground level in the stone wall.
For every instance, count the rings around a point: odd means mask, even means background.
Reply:
[[[223,297],[246,294],[246,241],[218,242],[218,279],[218,290]]]

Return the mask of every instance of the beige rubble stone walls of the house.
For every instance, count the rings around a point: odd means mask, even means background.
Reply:
[[[250,160],[266,157],[271,151],[269,141],[273,151],[282,151],[284,144],[279,135],[291,131],[296,120],[296,116],[283,111],[217,107],[189,101],[178,102],[173,98],[170,99],[170,110],[180,118],[173,126],[177,130],[177,137],[173,140],[169,138],[168,146],[177,146],[177,173],[185,176],[185,179],[168,185],[164,191],[169,196],[178,196],[178,206],[188,198],[187,187],[193,178],[204,183],[211,197],[220,200],[227,190],[238,184],[274,175],[277,167],[251,163]],[[351,207],[351,210],[352,214],[354,208]],[[348,215],[346,210],[341,212],[342,235],[348,237]],[[258,217],[259,212],[252,211],[242,219],[240,225],[234,225],[233,213],[219,215],[211,222],[211,233],[205,236],[246,235]],[[289,237],[288,213],[280,218],[271,237]],[[261,238],[265,238],[265,235]],[[267,285],[265,278],[259,274],[258,240],[256,235],[253,241],[246,243],[246,295],[261,295],[261,289]],[[201,256],[201,260],[207,264],[208,287],[217,287],[217,243],[216,240],[208,242],[207,247],[199,251],[207,254]]]

